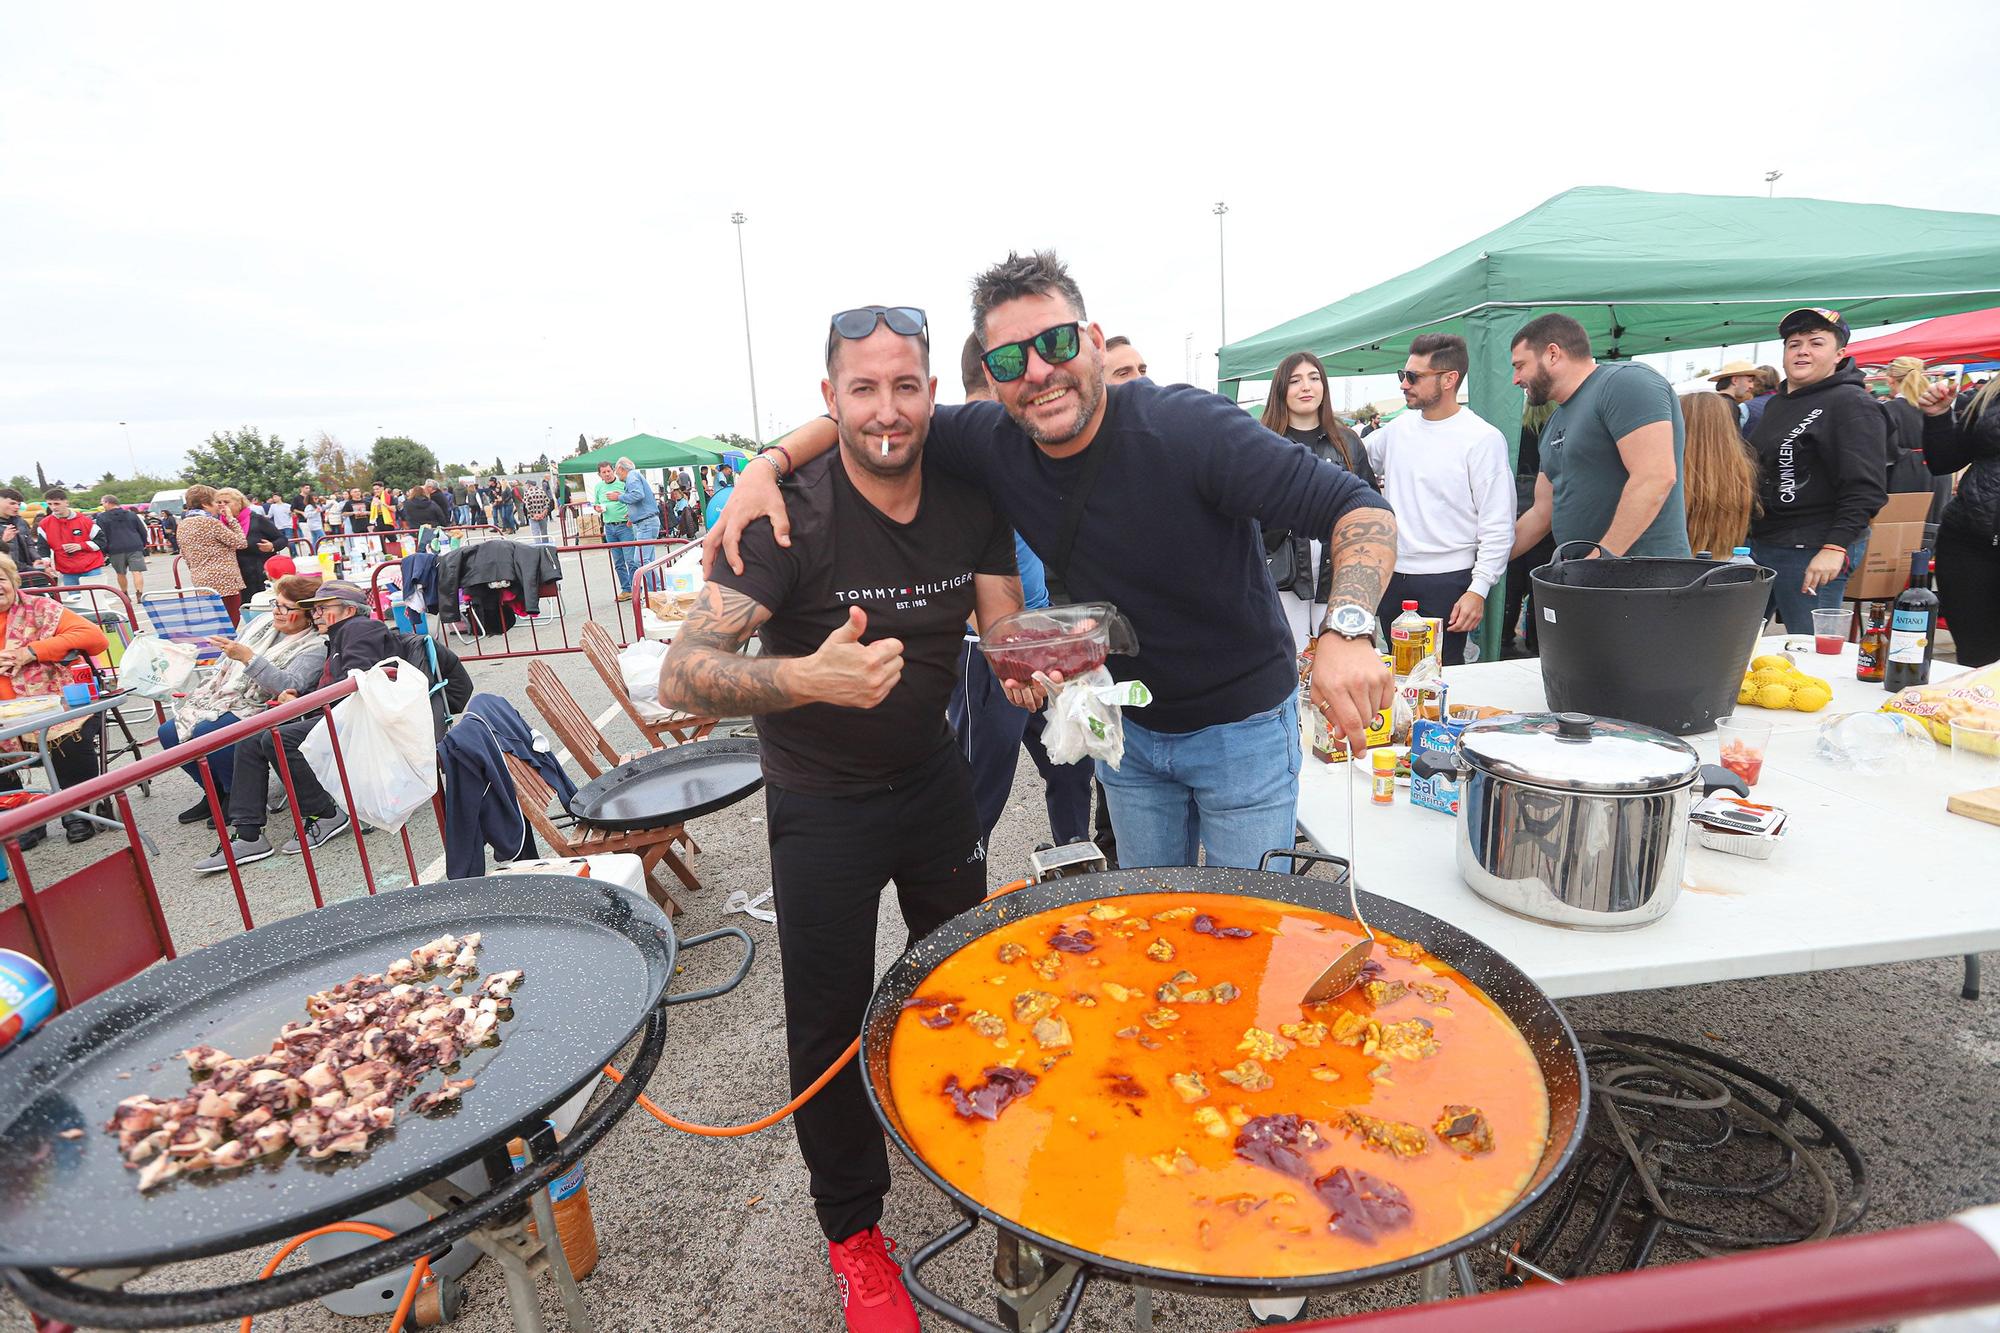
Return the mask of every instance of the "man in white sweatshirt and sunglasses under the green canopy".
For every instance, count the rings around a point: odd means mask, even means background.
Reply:
[[[1408,412],[1366,438],[1368,462],[1396,510],[1396,574],[1376,616],[1384,628],[1416,602],[1444,620],[1446,666],[1466,660],[1466,636],[1514,544],[1514,470],[1506,438],[1458,406],[1466,340],[1422,334],[1398,378]]]

